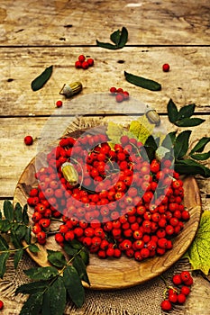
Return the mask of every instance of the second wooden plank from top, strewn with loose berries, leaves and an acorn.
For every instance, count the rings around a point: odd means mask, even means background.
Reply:
[[[81,53],[95,58],[95,66],[87,70],[76,69],[74,63]],[[65,106],[68,104],[70,113],[78,114],[79,109],[84,112],[83,104],[71,106],[72,99],[65,100],[59,95],[65,83],[74,81],[83,84],[83,91],[74,98],[109,93],[109,88],[114,85],[123,87],[133,98],[154,106],[159,112],[166,112],[169,98],[179,107],[196,103],[196,112],[210,112],[209,59],[210,50],[205,47],[124,48],[120,51],[100,48],[0,49],[0,95],[4,97],[0,114],[49,115],[60,98],[65,101]],[[161,68],[165,62],[171,67],[168,73]],[[50,65],[54,66],[50,80],[40,91],[33,92],[32,80]],[[153,92],[128,83],[124,70],[160,82],[161,91]],[[87,111],[87,104],[85,109]]]

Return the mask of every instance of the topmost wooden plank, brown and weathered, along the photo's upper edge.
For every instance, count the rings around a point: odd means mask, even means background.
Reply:
[[[128,44],[209,43],[209,2],[1,0],[1,45],[95,45],[126,26]]]

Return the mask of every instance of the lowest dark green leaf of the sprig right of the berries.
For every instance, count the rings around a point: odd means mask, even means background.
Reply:
[[[210,176],[210,169],[192,159],[183,159],[175,162],[175,170],[179,174]]]

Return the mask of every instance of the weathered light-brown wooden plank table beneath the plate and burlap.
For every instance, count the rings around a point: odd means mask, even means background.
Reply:
[[[108,92],[112,85],[123,87],[155,107],[168,130],[173,129],[166,117],[169,98],[178,108],[196,103],[196,117],[205,123],[193,129],[192,139],[209,136],[209,16],[207,0],[0,0],[1,205],[5,199],[13,200],[24,167],[37,153],[39,140],[26,147],[23,138],[27,134],[39,138],[55,113],[64,83],[82,82],[83,91],[75,98]],[[96,47],[96,39],[109,41],[110,33],[122,26],[129,32],[126,47]],[[76,69],[79,54],[94,58],[95,66]],[[164,63],[169,63],[169,73],[162,71]],[[32,79],[50,65],[50,81],[32,92]],[[160,82],[161,91],[130,85],[124,70]],[[63,102],[70,115],[78,114],[70,100]],[[209,180],[197,177],[197,182],[203,210],[209,210]],[[209,284],[197,277],[195,285],[198,294],[192,293],[186,314],[202,315],[210,302]],[[14,309],[8,302],[4,314],[13,314]]]

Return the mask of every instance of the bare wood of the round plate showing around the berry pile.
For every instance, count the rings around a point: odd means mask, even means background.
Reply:
[[[32,162],[23,171],[23,175],[16,186],[14,202],[20,202],[22,205],[26,203],[28,193],[32,187],[36,186],[35,172],[36,166],[34,159],[32,159]],[[162,257],[152,257],[141,263],[127,257],[102,260],[96,255],[91,255],[90,263],[87,266],[87,274],[92,289],[122,289],[142,284],[166,271],[183,256],[196,235],[201,215],[200,194],[194,177],[184,178],[184,190],[184,204],[190,212],[190,220],[186,222],[183,231],[174,239],[172,250],[166,252]],[[32,217],[33,209],[30,208],[29,213]],[[53,223],[51,229],[56,229],[59,226],[57,224]],[[47,248],[59,249],[54,237],[50,237],[45,246],[40,246],[40,252],[37,254],[29,252],[29,255],[40,266],[49,266]]]

